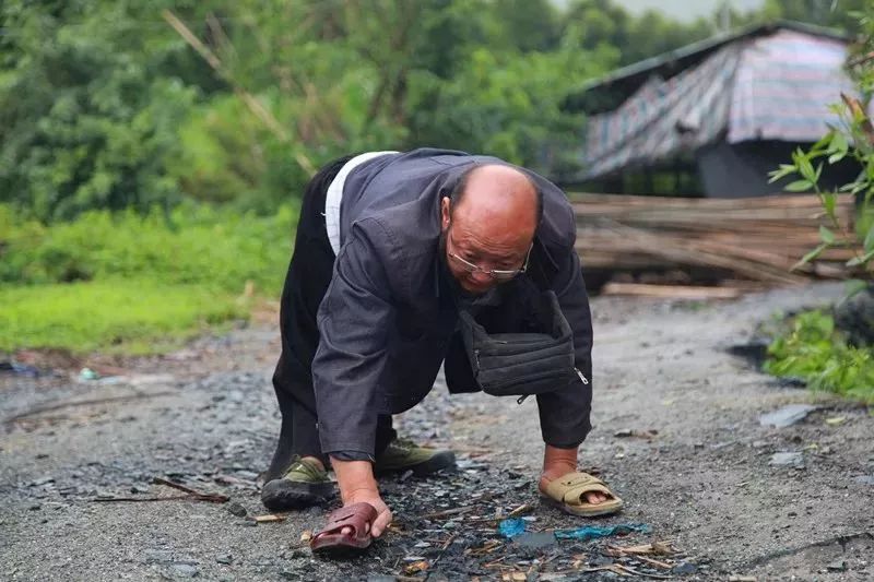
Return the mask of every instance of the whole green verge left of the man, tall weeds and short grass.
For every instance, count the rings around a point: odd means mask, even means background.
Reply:
[[[0,352],[165,352],[248,319],[247,285],[277,297],[296,212],[188,204],[169,216],[90,212],[22,221],[0,205]]]

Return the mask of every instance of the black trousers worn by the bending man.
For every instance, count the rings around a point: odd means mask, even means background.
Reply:
[[[328,290],[334,251],[324,226],[324,199],[328,187],[353,155],[331,162],[307,185],[300,205],[294,252],[285,276],[280,302],[282,353],[273,373],[282,428],[267,479],[282,476],[295,455],[316,456],[328,462],[321,451],[312,389],[312,358],[319,346],[316,314]],[[391,416],[377,421],[377,454],[395,438]]]

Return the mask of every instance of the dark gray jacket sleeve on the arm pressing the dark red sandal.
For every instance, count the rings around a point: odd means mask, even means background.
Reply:
[[[374,454],[379,380],[394,308],[385,270],[387,240],[377,223],[353,226],[334,262],[319,307],[319,347],[312,360],[322,452]],[[380,252],[381,251],[381,252]]]

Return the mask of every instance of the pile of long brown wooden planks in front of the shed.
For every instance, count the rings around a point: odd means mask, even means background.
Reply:
[[[819,244],[819,226],[830,226],[819,199],[812,194],[744,199],[571,194],[570,201],[577,216],[577,251],[587,272],[680,271],[693,273],[693,282],[707,273],[711,280],[758,286],[798,285],[811,278],[850,276],[845,263],[858,252],[849,246],[829,249],[792,271]],[[852,199],[841,197],[837,206],[841,224],[852,225]]]

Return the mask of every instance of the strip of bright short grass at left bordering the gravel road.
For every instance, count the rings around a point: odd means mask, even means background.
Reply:
[[[248,317],[249,306],[200,285],[119,280],[0,289],[0,351],[147,354]]]

